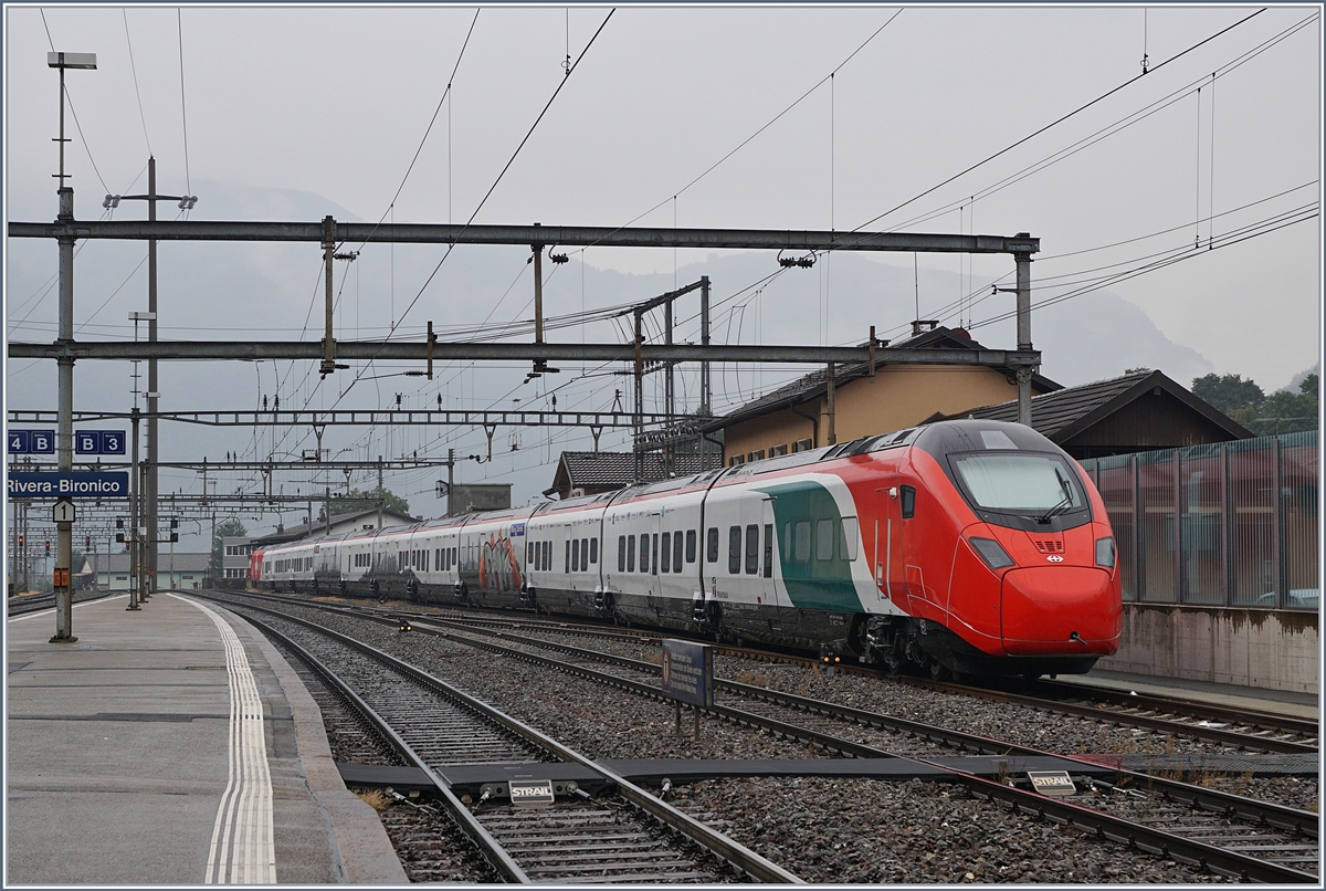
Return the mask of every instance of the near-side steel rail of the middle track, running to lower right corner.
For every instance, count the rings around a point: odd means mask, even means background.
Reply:
[[[379,621],[386,621],[386,619],[382,618]],[[419,630],[427,630],[426,624],[422,621],[420,624],[415,627]],[[583,666],[572,666],[568,663],[557,662],[556,659],[549,659],[546,656],[540,656],[537,654],[530,654],[522,650],[503,647],[500,644],[487,640],[476,640],[473,638],[467,638],[465,635],[456,634],[453,631],[439,628],[436,634],[448,640],[455,640],[457,643],[467,643],[469,646],[491,650],[493,652],[501,652],[503,655],[521,659],[525,662],[533,662],[536,664],[556,667],[561,671],[568,671],[570,674],[577,674],[585,678],[598,680],[599,683],[606,683],[627,689],[638,689],[643,695],[647,695],[654,699],[666,699],[659,688],[627,678],[617,678],[614,675],[606,675],[603,672],[594,671],[593,668],[585,668]],[[545,642],[537,642],[537,643],[545,643]],[[562,646],[562,644],[556,644],[556,646]],[[597,654],[597,655],[609,655],[609,654]],[[622,658],[613,656],[613,660],[617,659]],[[627,660],[627,662],[634,662],[634,660]],[[656,668],[655,666],[652,666],[652,663],[636,663],[636,664],[650,666],[651,668]],[[723,683],[727,685],[731,684],[732,682],[723,682]],[[744,684],[741,687],[744,687]],[[752,688],[752,689],[762,691],[762,688]],[[806,700],[806,701],[813,701],[813,700]],[[823,705],[823,704],[817,703],[817,705]],[[977,794],[983,794],[989,798],[1000,798],[1002,801],[1013,803],[1024,813],[1034,814],[1041,818],[1048,817],[1052,819],[1058,819],[1059,822],[1071,823],[1074,826],[1078,826],[1079,829],[1094,831],[1095,834],[1103,838],[1109,838],[1115,842],[1123,842],[1134,847],[1138,847],[1140,850],[1152,854],[1159,854],[1162,857],[1170,857],[1172,859],[1179,859],[1185,863],[1201,866],[1203,868],[1215,872],[1240,876],[1244,880],[1293,882],[1293,883],[1306,882],[1313,884],[1319,883],[1318,876],[1310,872],[1303,872],[1301,870],[1294,870],[1292,867],[1285,867],[1268,861],[1261,861],[1254,857],[1248,857],[1237,851],[1231,851],[1221,847],[1216,847],[1213,845],[1207,845],[1204,842],[1184,838],[1183,835],[1176,835],[1174,833],[1167,833],[1164,830],[1142,826],[1122,817],[1114,817],[1113,814],[1106,814],[1090,807],[1085,807],[1082,805],[1046,798],[1034,792],[1025,792],[1012,786],[1005,786],[1002,784],[985,780],[972,773],[957,770],[955,768],[939,764],[936,761],[907,757],[907,756],[896,756],[884,749],[862,745],[859,742],[853,742],[850,740],[831,737],[829,735],[819,733],[809,728],[786,724],[782,721],[777,721],[774,719],[768,719],[760,715],[743,712],[741,709],[733,709],[724,705],[715,704],[712,708],[707,708],[703,711],[711,712],[716,716],[727,717],[740,724],[747,724],[752,727],[764,727],[766,729],[772,729],[776,733],[781,733],[792,739],[798,739],[808,742],[815,742],[817,745],[822,745],[827,750],[838,750],[842,752],[843,754],[850,754],[853,757],[876,757],[876,758],[896,757],[906,761],[926,764],[955,776],[961,782],[973,789],[973,792],[976,792]],[[930,729],[939,729],[939,728],[930,728]],[[984,737],[971,737],[971,739],[984,740]],[[1037,749],[1029,749],[1026,746],[1006,746],[1006,749],[1009,752],[1020,750],[1020,753],[1028,753],[1028,754],[1040,754],[1040,756],[1052,754]],[[1065,757],[1065,756],[1055,756],[1055,757]],[[1086,766],[1086,764],[1089,762],[1083,762],[1083,766]],[[1101,765],[1090,764],[1090,766],[1098,768]],[[1185,785],[1185,784],[1177,784],[1177,785]],[[1314,821],[1317,818],[1315,814],[1305,814],[1305,815],[1311,817]]]

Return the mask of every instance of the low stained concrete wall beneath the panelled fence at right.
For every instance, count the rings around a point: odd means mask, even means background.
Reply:
[[[1124,603],[1119,652],[1097,667],[1317,693],[1318,626],[1306,611]]]

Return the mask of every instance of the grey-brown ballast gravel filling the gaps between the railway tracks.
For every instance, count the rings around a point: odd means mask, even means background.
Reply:
[[[692,740],[690,716],[676,736],[672,705],[464,644],[316,607],[282,607],[406,659],[492,703],[593,758],[798,758],[804,744],[705,719]],[[579,635],[578,646],[650,660],[642,644]],[[565,636],[549,639],[568,643]],[[656,644],[650,647],[658,652]],[[638,654],[638,655],[636,655]],[[1093,725],[1029,708],[813,668],[720,656],[720,676],[855,708],[891,712],[1045,749],[1079,752],[1207,750],[1155,735]],[[736,704],[736,703],[733,703]],[[1172,748],[1171,748],[1172,746]],[[1211,750],[1219,750],[1219,746]],[[1250,784],[1272,784],[1284,780]],[[1315,784],[1303,782],[1315,806]],[[1094,805],[1090,798],[1079,803]],[[1220,882],[1197,867],[1127,850],[1074,827],[1028,817],[949,785],[822,778],[695,782],[670,801],[812,882],[831,883],[1196,883]],[[1077,800],[1075,800],[1077,801]],[[1103,802],[1102,802],[1103,803]],[[1105,809],[1105,807],[1101,807]]]

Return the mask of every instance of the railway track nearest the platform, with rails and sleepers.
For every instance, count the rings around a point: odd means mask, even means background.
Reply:
[[[296,617],[247,618],[354,703],[402,757],[430,776],[457,826],[505,880],[712,883],[749,876],[800,883],[585,756],[381,650]],[[477,801],[467,802],[444,774],[475,762],[489,768],[493,780]],[[550,765],[579,765],[602,792],[550,781],[552,803],[522,807],[511,798],[512,781],[501,780],[511,772],[493,769],[504,765],[534,778],[553,772]]]

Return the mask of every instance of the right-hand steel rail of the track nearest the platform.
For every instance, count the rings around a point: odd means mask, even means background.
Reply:
[[[308,605],[304,603],[304,606]],[[778,884],[805,884],[802,879],[797,878],[792,872],[788,872],[782,867],[765,859],[764,857],[756,854],[754,851],[747,849],[745,846],[737,843],[736,841],[728,838],[727,835],[723,835],[721,833],[709,829],[700,821],[695,819],[693,817],[686,814],[682,810],[678,810],[676,807],[662,801],[660,798],[654,797],[652,794],[636,786],[635,784],[630,782],[629,780],[615,773],[614,770],[607,769],[606,766],[598,764],[597,761],[558,742],[550,736],[546,736],[540,731],[536,731],[533,727],[529,727],[528,724],[524,724],[516,720],[514,717],[511,717],[509,715],[493,708],[492,705],[488,705],[487,703],[475,699],[468,693],[461,692],[460,689],[452,687],[444,680],[440,680],[430,675],[428,672],[415,666],[411,666],[410,663],[402,662],[395,656],[391,656],[378,650],[377,647],[373,647],[361,640],[355,640],[354,638],[343,635],[338,631],[333,631],[332,628],[322,627],[314,622],[309,622],[308,619],[301,619],[297,617],[284,615],[284,614],[282,618],[297,622],[300,624],[305,624],[309,628],[317,630],[320,634],[324,634],[334,640],[339,640],[341,643],[353,647],[363,652],[365,655],[369,655],[385,664],[391,666],[395,671],[406,674],[418,680],[419,683],[434,688],[443,696],[447,696],[457,703],[464,704],[467,708],[505,727],[512,733],[520,736],[521,739],[529,742],[533,742],[538,748],[562,758],[564,761],[575,762],[583,765],[585,768],[589,768],[590,770],[594,770],[605,780],[607,780],[610,784],[617,786],[618,794],[621,794],[629,802],[631,802],[640,810],[648,813],[664,826],[687,837],[688,839],[691,839],[704,850],[709,851],[711,854],[715,854],[720,859],[727,861],[728,863],[732,863],[737,868],[745,871],[752,878],[760,882],[772,882]],[[373,617],[373,621],[381,622],[383,619]]]

